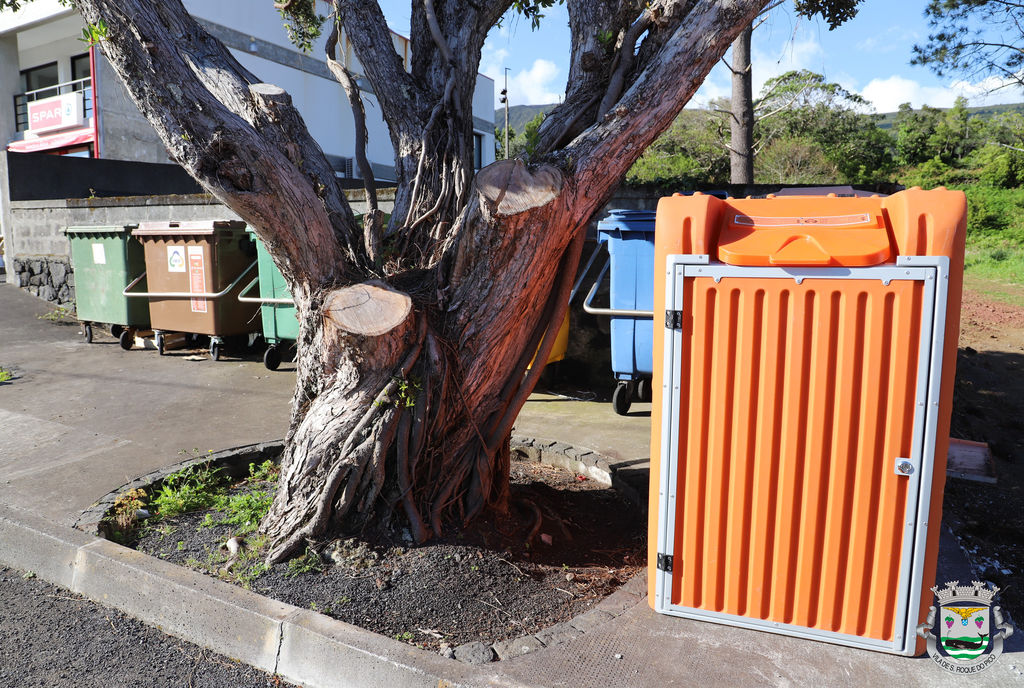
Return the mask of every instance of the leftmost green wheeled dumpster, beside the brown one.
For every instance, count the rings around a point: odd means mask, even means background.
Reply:
[[[125,350],[134,344],[136,330],[150,329],[147,304],[122,294],[128,283],[145,272],[142,245],[131,235],[134,227],[71,226],[65,229],[71,242],[71,262],[75,270],[76,310],[87,342],[92,341],[94,324],[110,326],[111,334]]]

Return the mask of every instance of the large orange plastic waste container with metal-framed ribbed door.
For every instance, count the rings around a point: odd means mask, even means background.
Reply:
[[[656,611],[924,650],[966,223],[944,188],[662,199]]]

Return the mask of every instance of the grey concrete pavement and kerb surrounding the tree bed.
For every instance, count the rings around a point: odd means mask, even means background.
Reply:
[[[188,360],[86,344],[75,325],[0,285],[0,563],[119,606],[194,642],[309,685],[1024,685],[1021,636],[983,674],[964,679],[906,658],[653,613],[642,582],[616,594],[622,613],[530,654],[469,666],[391,639],[264,600],[69,526],[130,479],[179,451],[284,435],[294,376],[257,360]],[[627,418],[610,404],[536,394],[518,435],[602,455],[631,482],[646,477],[649,405]],[[951,538],[939,578],[970,579]],[[206,620],[204,620],[206,619]],[[228,622],[225,619],[237,619]],[[217,644],[220,646],[216,646]],[[333,664],[331,662],[334,662]],[[315,666],[313,664],[316,664]],[[348,671],[339,671],[347,669]],[[333,673],[331,673],[333,672]]]

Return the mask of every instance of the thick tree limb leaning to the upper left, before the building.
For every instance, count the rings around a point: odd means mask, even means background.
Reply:
[[[256,230],[297,298],[359,269],[351,210],[287,93],[258,85],[179,0],[76,5],[106,24],[103,52],[170,155]]]

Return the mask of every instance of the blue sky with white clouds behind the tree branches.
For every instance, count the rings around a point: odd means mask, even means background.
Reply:
[[[409,35],[409,0],[381,0],[388,24]],[[903,102],[948,107],[957,95],[971,105],[1022,102],[1021,89],[992,90],[989,81],[938,77],[910,64],[915,43],[928,39],[924,16],[928,0],[864,0],[857,16],[828,31],[820,20],[797,17],[791,7],[774,10],[754,32],[755,97],[765,81],[790,70],[810,70],[866,98],[878,113],[894,112]],[[508,17],[492,30],[483,47],[480,72],[504,87],[508,68],[509,103],[557,102],[565,91],[569,54],[568,15],[563,6],[547,10],[541,29]],[[729,74],[719,66],[709,75],[688,106],[730,93]]]

